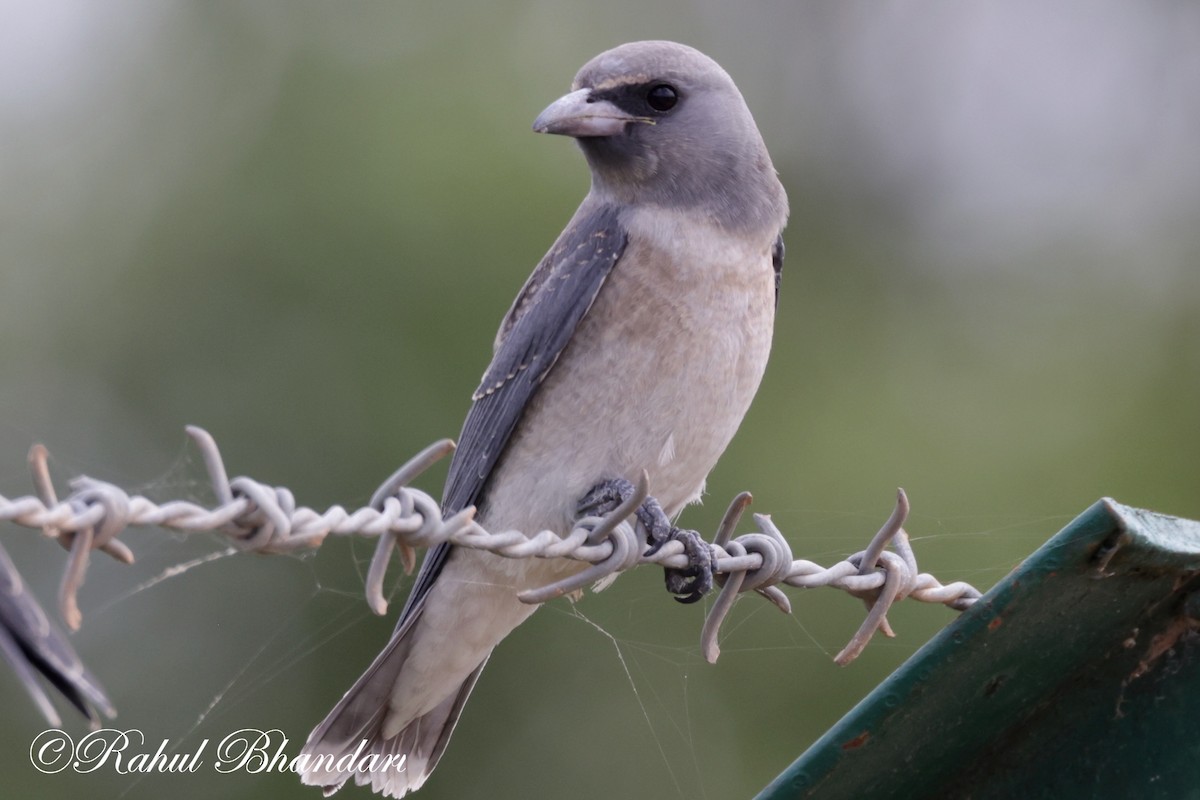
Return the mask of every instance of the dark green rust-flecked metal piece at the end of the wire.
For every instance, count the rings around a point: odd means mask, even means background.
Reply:
[[[1200,523],[1100,500],[758,795],[1200,798]]]

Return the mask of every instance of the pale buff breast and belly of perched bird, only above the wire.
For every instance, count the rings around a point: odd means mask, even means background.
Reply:
[[[697,499],[758,389],[774,323],[769,247],[715,255],[656,254],[666,269],[650,273],[625,269],[644,246],[625,253],[527,409],[486,524],[565,530],[588,489],[643,469],[667,513]]]

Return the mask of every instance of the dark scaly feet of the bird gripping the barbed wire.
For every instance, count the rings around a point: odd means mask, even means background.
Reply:
[[[632,483],[623,477],[613,477],[592,487],[580,500],[577,511],[581,515],[602,517],[616,510],[632,493]],[[646,529],[646,541],[649,545],[647,555],[654,555],[670,541],[683,542],[688,566],[665,570],[667,591],[682,603],[694,603],[703,597],[713,588],[713,548],[708,542],[695,530],[672,525],[662,506],[654,498],[646,498],[634,516]]]

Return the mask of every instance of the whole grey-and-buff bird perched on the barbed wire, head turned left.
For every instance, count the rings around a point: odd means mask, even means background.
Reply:
[[[500,323],[443,512],[565,535],[644,470],[638,521],[650,546],[678,537],[696,557],[667,581],[696,600],[709,551],[672,521],[703,494],[762,380],[787,196],[732,78],[685,44],[596,55],[533,128],[576,140],[590,188]],[[535,610],[517,594],[583,566],[431,549],[391,639],[310,734],[302,782],[420,788],[493,648]],[[400,768],[376,769],[385,756]]]

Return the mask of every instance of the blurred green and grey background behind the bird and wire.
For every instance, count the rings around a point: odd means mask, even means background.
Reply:
[[[41,441],[64,481],[206,501],[196,423],[234,475],[366,503],[457,434],[500,315],[587,188],[532,120],[595,53],[662,37],[733,74],[792,201],[772,365],[685,524],[712,531],[750,489],[798,557],[833,563],[904,486],[922,566],[986,589],[1102,495],[1200,517],[1198,17],[4,2],[0,493],[29,492]],[[0,540],[52,606],[61,551]],[[73,640],[151,750],[277,727],[296,753],[392,624],[360,596],[370,542],[145,585],[222,543],[126,541],[138,564],[95,558]],[[716,666],[703,609],[655,570],[548,604],[419,796],[749,796],[952,619],[899,608],[899,638],[840,669],[860,604],[792,597],[792,616],[740,602]],[[44,723],[5,669],[0,706],[5,796],[318,796],[288,774],[41,775]]]

